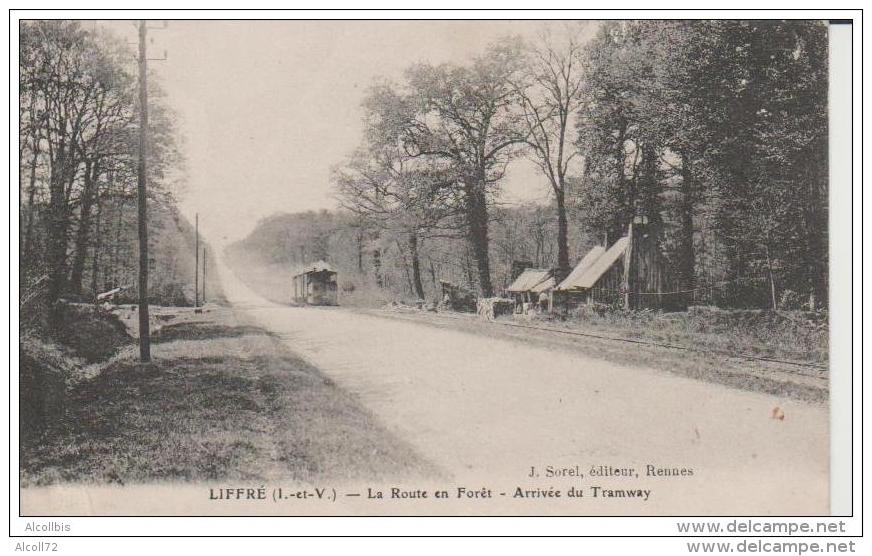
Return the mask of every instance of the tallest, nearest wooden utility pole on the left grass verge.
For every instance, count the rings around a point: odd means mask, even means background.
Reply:
[[[148,213],[146,173],[148,133],[148,84],[146,82],[145,20],[139,22],[139,161],[136,165],[136,199],[139,234],[139,360],[151,362],[148,328]]]

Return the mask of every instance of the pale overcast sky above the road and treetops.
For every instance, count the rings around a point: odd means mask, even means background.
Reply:
[[[101,22],[136,40],[129,22]],[[501,35],[532,39],[543,22],[171,21],[149,56],[179,115],[187,158],[182,212],[213,243],[243,237],[275,212],[335,208],[331,166],[360,143],[360,103],[378,77],[414,62],[464,62]],[[552,25],[564,26],[562,23]],[[513,163],[506,200],[548,196]]]

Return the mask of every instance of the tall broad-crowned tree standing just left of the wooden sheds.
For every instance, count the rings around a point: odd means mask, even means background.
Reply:
[[[521,63],[520,43],[507,40],[468,66],[415,65],[406,72],[406,91],[382,89],[371,98],[373,113],[399,130],[400,144],[410,156],[454,167],[478,289],[485,297],[493,295],[489,205],[526,137],[511,84]]]

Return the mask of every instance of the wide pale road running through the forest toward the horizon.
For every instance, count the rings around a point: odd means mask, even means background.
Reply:
[[[282,306],[218,270],[236,310],[356,395],[447,484],[651,491],[592,513],[829,512],[825,405],[341,307]],[[548,477],[548,466],[572,471]],[[614,474],[625,468],[638,477]]]

